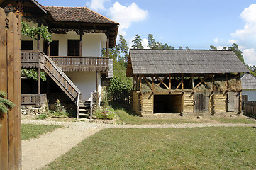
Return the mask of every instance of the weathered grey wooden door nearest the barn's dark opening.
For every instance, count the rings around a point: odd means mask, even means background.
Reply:
[[[208,113],[209,111],[209,93],[196,92],[194,94],[194,113]]]

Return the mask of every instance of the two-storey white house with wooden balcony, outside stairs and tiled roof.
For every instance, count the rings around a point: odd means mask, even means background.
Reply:
[[[35,0],[6,0],[0,6],[23,16],[30,26],[48,26],[52,35],[52,42],[22,35],[23,69],[43,70],[48,77],[46,82],[40,81],[40,74],[38,82],[22,80],[23,105],[40,107],[59,98],[75,103],[77,116],[87,113],[91,94],[99,100],[101,78],[110,75],[108,49],[116,45],[118,23],[87,7],[49,7]]]

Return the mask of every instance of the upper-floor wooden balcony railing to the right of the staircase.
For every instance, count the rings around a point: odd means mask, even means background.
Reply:
[[[108,57],[51,56],[62,71],[108,72]]]

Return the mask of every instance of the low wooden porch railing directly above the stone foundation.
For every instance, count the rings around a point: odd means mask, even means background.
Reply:
[[[22,105],[39,105],[47,102],[46,94],[21,94]]]

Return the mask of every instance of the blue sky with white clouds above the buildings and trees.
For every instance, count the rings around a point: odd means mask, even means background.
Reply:
[[[120,23],[128,44],[136,34],[191,49],[221,49],[236,42],[245,63],[256,65],[256,1],[252,0],[38,0],[43,6],[87,6]]]

